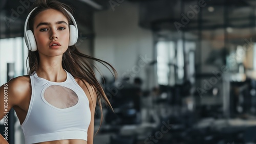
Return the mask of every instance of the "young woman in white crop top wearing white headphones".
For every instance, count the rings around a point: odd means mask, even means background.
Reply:
[[[28,144],[92,144],[96,103],[111,105],[89,61],[116,71],[77,50],[78,29],[67,5],[38,0],[33,8],[25,22],[28,75],[0,87],[0,105],[14,108]],[[0,108],[1,119],[7,111]],[[8,143],[2,135],[0,141]]]

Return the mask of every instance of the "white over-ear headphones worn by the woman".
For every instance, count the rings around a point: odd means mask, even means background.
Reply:
[[[37,45],[36,45],[36,41],[35,41],[35,37],[34,34],[31,30],[27,30],[27,25],[28,25],[28,20],[29,17],[31,15],[31,13],[36,9],[37,7],[35,7],[29,14],[28,17],[25,21],[25,26],[24,26],[24,38],[25,38],[25,42],[26,45],[28,46],[28,49],[32,52],[37,50]],[[65,8],[63,8],[65,9]],[[66,9],[65,9],[66,10]],[[74,25],[69,25],[69,46],[74,45],[77,42],[78,39],[78,29],[77,29],[77,25],[76,25],[76,21],[75,18],[72,16],[72,14],[66,10],[66,12],[68,13],[68,15],[70,16],[71,20],[73,21]]]

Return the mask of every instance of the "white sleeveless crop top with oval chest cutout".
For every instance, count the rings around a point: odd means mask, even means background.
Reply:
[[[73,76],[66,73],[64,82],[51,82],[36,73],[30,76],[31,100],[21,126],[26,144],[61,139],[87,140],[91,122],[89,101]]]

